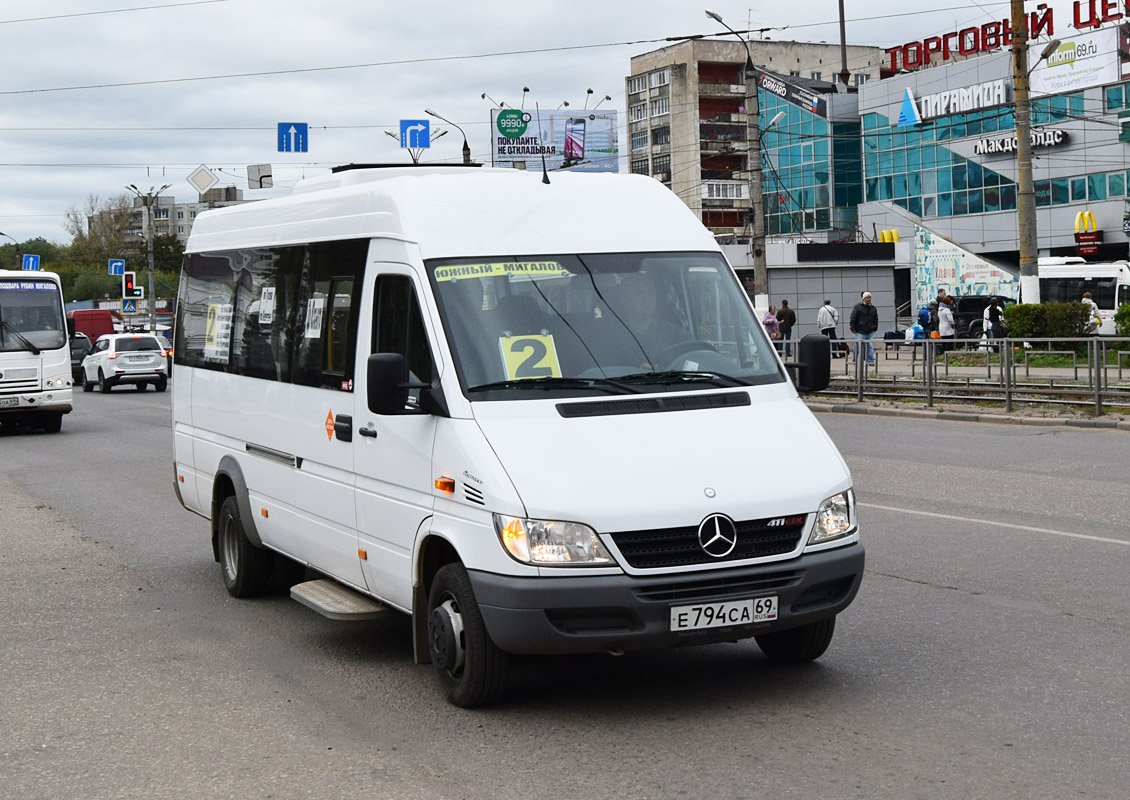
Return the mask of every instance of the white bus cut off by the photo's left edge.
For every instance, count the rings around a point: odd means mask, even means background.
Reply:
[[[0,270],[0,426],[59,432],[71,383],[59,276]]]

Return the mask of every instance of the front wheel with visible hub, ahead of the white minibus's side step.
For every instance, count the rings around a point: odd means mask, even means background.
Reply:
[[[435,574],[427,637],[432,666],[453,705],[487,705],[505,692],[510,655],[490,641],[462,564],[447,564]]]

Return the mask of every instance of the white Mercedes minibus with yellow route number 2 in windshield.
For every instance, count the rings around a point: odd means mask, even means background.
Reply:
[[[782,364],[662,184],[341,168],[185,253],[175,487],[233,595],[408,614],[461,706],[513,654],[828,646],[863,548],[798,395],[827,339]]]

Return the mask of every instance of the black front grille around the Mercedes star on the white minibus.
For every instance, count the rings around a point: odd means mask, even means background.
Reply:
[[[791,524],[768,524],[782,519],[788,519]],[[722,558],[715,558],[703,550],[698,544],[697,527],[620,531],[610,536],[628,565],[637,569],[725,564],[792,553],[797,549],[807,519],[806,515],[798,514],[736,522],[738,541],[733,550]],[[793,522],[794,520],[798,521]]]

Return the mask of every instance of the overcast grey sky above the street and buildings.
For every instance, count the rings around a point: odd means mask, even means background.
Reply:
[[[629,59],[669,36],[721,33],[705,7],[739,31],[838,41],[836,0],[757,2],[0,0],[0,231],[66,243],[63,215],[89,195],[169,183],[165,194],[191,201],[201,164],[262,198],[337,164],[407,162],[384,131],[425,107],[489,162],[483,93],[519,105],[529,87],[527,108],[611,95],[601,107],[623,124]],[[880,47],[1009,16],[1008,2],[981,0],[844,5],[849,44]],[[1051,5],[1067,33],[1071,5]],[[310,125],[307,153],[278,153],[279,122]],[[460,160],[461,147],[452,130],[425,158]],[[246,166],[260,163],[276,189],[247,189]]]

